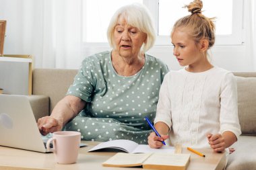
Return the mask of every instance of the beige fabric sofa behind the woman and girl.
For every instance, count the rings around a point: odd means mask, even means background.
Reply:
[[[36,120],[49,115],[65,96],[77,70],[34,69],[33,95],[30,101]],[[238,82],[238,116],[243,134],[233,146],[236,149],[226,169],[256,169],[256,73],[234,73]]]

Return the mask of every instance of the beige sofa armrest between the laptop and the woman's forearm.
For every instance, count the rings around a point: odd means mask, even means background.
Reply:
[[[36,122],[38,118],[42,118],[43,116],[49,116],[49,97],[45,95],[28,95],[28,100],[30,101],[30,105],[32,111],[34,113],[34,118]]]

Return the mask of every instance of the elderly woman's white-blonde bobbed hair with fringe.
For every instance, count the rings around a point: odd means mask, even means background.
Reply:
[[[156,40],[156,33],[154,30],[154,24],[150,12],[148,9],[139,3],[133,3],[131,5],[126,5],[118,9],[110,20],[108,26],[107,37],[108,43],[112,48],[115,48],[114,32],[115,26],[120,17],[126,20],[127,24],[138,28],[141,32],[147,34],[146,42],[143,44],[143,52],[146,52],[154,45]]]

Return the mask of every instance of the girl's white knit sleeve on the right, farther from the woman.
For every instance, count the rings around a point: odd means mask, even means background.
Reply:
[[[237,84],[232,73],[227,73],[222,81],[220,93],[220,133],[230,131],[236,135],[241,134],[238,120]]]

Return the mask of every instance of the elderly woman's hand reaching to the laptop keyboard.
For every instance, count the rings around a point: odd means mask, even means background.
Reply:
[[[37,126],[42,135],[49,134],[50,132],[61,131],[63,123],[51,116],[45,116],[38,119]]]

